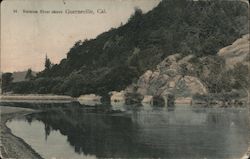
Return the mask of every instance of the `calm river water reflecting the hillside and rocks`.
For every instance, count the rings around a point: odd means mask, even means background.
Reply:
[[[65,106],[7,122],[46,159],[235,159],[247,150],[247,108]]]

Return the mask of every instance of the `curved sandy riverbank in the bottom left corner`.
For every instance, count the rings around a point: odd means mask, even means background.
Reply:
[[[9,119],[33,113],[35,110],[7,106],[0,106],[0,110],[1,158],[42,159],[42,157],[30,147],[30,145],[25,143],[23,139],[13,135],[11,130],[6,126],[6,122]]]

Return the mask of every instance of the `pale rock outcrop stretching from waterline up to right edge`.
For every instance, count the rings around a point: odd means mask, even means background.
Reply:
[[[159,63],[155,70],[147,70],[134,86],[126,93],[140,94],[147,100],[153,97],[153,103],[189,104],[194,95],[207,95],[209,84],[202,83],[218,70],[232,69],[241,63],[250,67],[249,34],[237,39],[232,45],[220,49],[218,56],[195,57],[173,54]],[[220,71],[217,71],[220,73]],[[200,77],[201,79],[199,79]],[[128,91],[130,90],[130,91]],[[131,91],[132,90],[132,91]],[[157,101],[155,101],[157,100]],[[144,100],[142,103],[145,103]]]

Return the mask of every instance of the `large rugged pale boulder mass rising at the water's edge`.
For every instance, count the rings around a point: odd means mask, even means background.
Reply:
[[[207,94],[206,87],[194,76],[184,75],[193,69],[189,62],[192,55],[181,57],[174,54],[164,59],[157,69],[146,71],[137,82],[137,92],[142,95],[162,96],[174,94],[176,97],[192,97]]]

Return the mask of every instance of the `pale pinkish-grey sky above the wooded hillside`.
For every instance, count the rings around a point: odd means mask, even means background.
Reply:
[[[145,13],[159,2],[160,0],[3,1],[1,72],[24,71],[28,68],[41,71],[46,54],[53,63],[59,63],[76,41],[95,38],[112,27],[126,23],[135,7],[141,8]],[[62,13],[55,14],[52,13],[53,10]],[[70,10],[71,14],[65,13],[66,10]],[[82,13],[72,14],[72,11]]]

